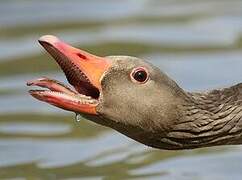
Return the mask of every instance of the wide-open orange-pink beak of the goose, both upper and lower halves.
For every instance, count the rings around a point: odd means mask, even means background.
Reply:
[[[55,36],[42,36],[39,43],[56,60],[74,89],[56,80],[40,78],[27,82],[27,85],[49,90],[30,90],[29,93],[41,101],[68,111],[97,114],[101,79],[111,62],[107,58],[74,48]]]

